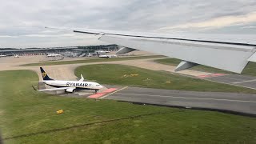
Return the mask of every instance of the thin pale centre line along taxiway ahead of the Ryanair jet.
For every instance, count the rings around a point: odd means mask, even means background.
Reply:
[[[122,93],[118,93],[122,94]],[[236,100],[236,99],[218,99],[218,98],[188,98],[188,97],[174,97],[174,96],[164,96],[164,95],[150,95],[150,94],[125,94],[125,95],[146,95],[149,97],[168,97],[168,98],[183,98],[183,99],[198,99],[198,100],[215,100],[215,101],[228,101],[228,102],[253,102],[255,101],[242,101],[242,100]]]

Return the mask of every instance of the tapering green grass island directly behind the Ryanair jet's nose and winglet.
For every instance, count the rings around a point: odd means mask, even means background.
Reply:
[[[169,90],[192,90],[192,91],[218,91],[235,93],[255,93],[251,90],[238,86],[230,86],[218,82],[209,82],[198,78],[170,74],[163,71],[146,70],[134,66],[98,64],[80,66],[75,74],[86,76],[86,79],[95,80],[99,83],[122,86],[139,86]],[[131,77],[130,74],[138,74]],[[128,77],[124,77],[128,75]],[[170,82],[170,83],[166,83]]]

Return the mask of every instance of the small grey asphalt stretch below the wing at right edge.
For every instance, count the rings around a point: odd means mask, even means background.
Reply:
[[[243,86],[256,90],[256,77],[248,75],[228,74],[218,77],[205,78],[214,82],[222,82],[230,85]]]

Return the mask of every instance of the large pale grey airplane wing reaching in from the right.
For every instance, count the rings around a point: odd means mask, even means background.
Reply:
[[[117,54],[145,50],[181,59],[175,71],[198,64],[241,73],[256,62],[255,34],[159,34],[117,30],[81,29],[75,33],[99,35],[99,40],[124,46]]]

